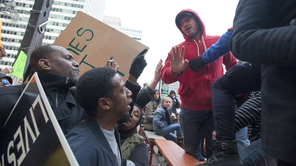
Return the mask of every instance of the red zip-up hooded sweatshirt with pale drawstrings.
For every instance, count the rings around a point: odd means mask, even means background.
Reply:
[[[205,34],[205,25],[198,16],[198,14],[191,9],[184,9],[180,13],[190,13],[195,16],[200,22],[201,36],[200,38],[188,38],[177,25],[178,29],[184,36],[185,41],[178,44],[180,50],[181,47],[185,47],[184,59],[189,62],[197,56],[202,54],[212,44],[215,44],[220,36],[209,36]],[[178,14],[180,14],[178,13]],[[178,16],[177,14],[177,16]],[[172,54],[172,50],[170,51]],[[206,64],[198,69],[197,73],[194,73],[189,65],[185,68],[184,74],[176,76],[171,71],[170,59],[165,60],[165,66],[161,70],[161,79],[166,84],[179,81],[180,87],[178,94],[181,98],[181,107],[189,110],[212,110],[212,93],[211,86],[219,77],[223,76],[223,66],[226,70],[237,64],[237,59],[232,56],[231,52],[221,56],[215,62]]]

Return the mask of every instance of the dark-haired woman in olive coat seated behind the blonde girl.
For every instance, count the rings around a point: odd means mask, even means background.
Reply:
[[[144,128],[146,128],[149,131],[153,130],[154,112],[161,102],[160,93],[158,89],[154,90],[152,98],[153,99],[145,106]]]

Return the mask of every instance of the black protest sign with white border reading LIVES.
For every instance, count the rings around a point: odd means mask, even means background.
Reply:
[[[0,142],[1,166],[78,165],[37,73],[5,122]]]

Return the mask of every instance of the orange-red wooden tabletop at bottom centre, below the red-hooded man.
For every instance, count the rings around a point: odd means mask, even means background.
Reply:
[[[186,154],[184,149],[179,147],[173,141],[155,139],[154,142],[169,166],[193,166],[204,163],[199,162],[196,159],[194,159],[194,157],[192,157],[191,155]]]

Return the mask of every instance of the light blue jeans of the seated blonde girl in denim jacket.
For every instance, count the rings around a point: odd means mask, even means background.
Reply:
[[[180,124],[168,125],[168,126],[165,126],[164,128],[158,129],[158,130],[156,128],[154,129],[155,134],[163,136],[163,137],[165,137],[165,139],[169,139],[169,140],[176,142],[177,136],[172,133],[174,131],[177,131],[178,137],[183,136]]]

